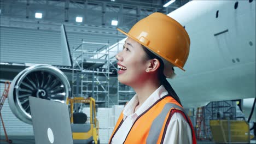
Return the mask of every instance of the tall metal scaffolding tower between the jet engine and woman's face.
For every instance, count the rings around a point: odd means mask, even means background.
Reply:
[[[97,104],[108,107],[109,44],[82,40],[82,44],[73,48],[73,63],[72,97],[92,97]]]

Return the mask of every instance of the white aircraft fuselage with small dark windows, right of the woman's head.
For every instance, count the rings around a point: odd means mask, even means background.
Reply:
[[[168,16],[191,41],[186,71],[169,81],[185,107],[255,98],[255,1],[191,1]]]

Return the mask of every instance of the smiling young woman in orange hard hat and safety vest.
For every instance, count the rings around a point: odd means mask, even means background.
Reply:
[[[183,69],[190,39],[171,17],[153,13],[126,33],[118,80],[136,95],[127,103],[109,143],[196,143],[193,125],[167,78]]]

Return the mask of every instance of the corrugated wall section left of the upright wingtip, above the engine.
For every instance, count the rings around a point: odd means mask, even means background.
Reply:
[[[61,64],[60,33],[0,27],[1,62]]]

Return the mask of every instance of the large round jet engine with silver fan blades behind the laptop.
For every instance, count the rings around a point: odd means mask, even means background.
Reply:
[[[11,82],[8,101],[11,111],[22,122],[32,124],[28,97],[66,103],[71,87],[65,74],[52,65],[33,65],[22,70]]]

